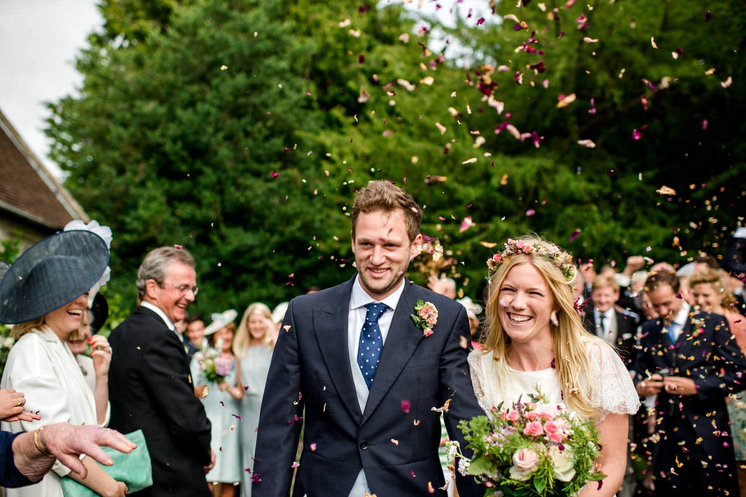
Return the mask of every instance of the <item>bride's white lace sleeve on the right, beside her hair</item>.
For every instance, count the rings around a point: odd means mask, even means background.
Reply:
[[[597,422],[607,414],[635,414],[640,399],[624,363],[605,342],[595,341],[589,346],[592,378],[591,402],[601,410]]]

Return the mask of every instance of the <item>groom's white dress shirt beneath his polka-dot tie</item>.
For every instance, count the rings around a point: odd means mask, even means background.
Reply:
[[[363,323],[366,322],[366,314],[368,313],[366,304],[378,302],[389,306],[389,309],[378,318],[378,327],[380,328],[380,334],[383,337],[383,344],[386,344],[386,336],[389,335],[389,328],[394,319],[394,311],[396,310],[399,298],[403,293],[404,279],[401,280],[399,288],[383,300],[375,300],[367,294],[365,290],[363,290],[363,286],[360,285],[360,275],[355,276],[355,282],[352,284],[350,311],[347,316],[347,352],[350,360],[350,368],[352,370],[352,380],[355,384],[355,391],[357,392],[357,403],[360,405],[361,413],[366,410],[366,402],[368,402],[369,393],[366,380],[363,378],[363,373],[360,372],[360,366],[357,365],[357,348],[360,345],[360,331],[363,329]],[[375,377],[373,381],[375,381]],[[362,497],[370,492],[371,490],[368,487],[365,472],[361,469],[360,473],[357,475],[357,480],[355,480],[355,483],[352,486],[350,497]]]

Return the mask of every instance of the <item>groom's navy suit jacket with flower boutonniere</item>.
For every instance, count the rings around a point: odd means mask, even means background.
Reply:
[[[466,308],[404,280],[368,402],[360,412],[348,356],[348,312],[354,278],[293,299],[272,365],[257,434],[254,497],[287,496],[300,417],[303,454],[293,496],[348,497],[360,469],[378,496],[425,496],[427,482],[444,483],[438,460],[440,414],[451,440],[466,447],[459,420],[484,415],[474,397],[466,357]],[[417,300],[439,311],[433,335],[424,338],[410,314]],[[402,401],[409,401],[405,412]],[[473,478],[458,481],[462,497],[483,496]],[[257,481],[260,479],[261,481]],[[362,496],[361,496],[362,497]]]

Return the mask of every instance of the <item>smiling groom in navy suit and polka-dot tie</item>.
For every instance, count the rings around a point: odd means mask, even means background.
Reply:
[[[293,496],[445,496],[433,408],[462,447],[459,420],[484,413],[466,363],[466,309],[404,277],[421,220],[406,191],[369,183],[352,209],[357,274],[290,302],[262,402],[254,497],[288,496],[304,422]],[[418,300],[438,311],[431,330],[410,317]],[[462,497],[483,495],[458,478]]]

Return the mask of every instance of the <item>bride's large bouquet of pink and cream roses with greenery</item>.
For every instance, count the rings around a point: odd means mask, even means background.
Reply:
[[[446,443],[449,458],[460,458],[459,472],[483,481],[485,497],[569,497],[591,481],[601,488],[606,475],[596,470],[601,446],[593,422],[542,402],[540,392],[529,397],[507,410],[493,408],[494,421],[478,416],[460,423],[474,457],[464,457],[458,442]]]

